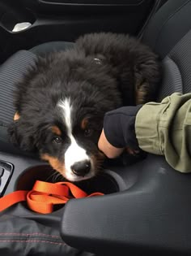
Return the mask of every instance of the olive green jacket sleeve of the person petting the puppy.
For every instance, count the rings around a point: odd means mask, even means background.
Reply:
[[[139,147],[164,155],[177,171],[191,171],[191,93],[173,93],[142,106],[135,121]]]

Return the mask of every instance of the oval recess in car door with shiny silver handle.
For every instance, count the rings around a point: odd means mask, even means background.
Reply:
[[[1,24],[2,27],[15,33],[23,31],[23,29],[29,28],[36,21],[36,16],[29,11],[21,7],[17,8],[6,8],[1,10]]]

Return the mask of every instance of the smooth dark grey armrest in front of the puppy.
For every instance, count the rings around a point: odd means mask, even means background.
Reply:
[[[70,200],[62,238],[70,246],[104,255],[191,254],[190,202],[191,175],[150,155],[130,189]]]

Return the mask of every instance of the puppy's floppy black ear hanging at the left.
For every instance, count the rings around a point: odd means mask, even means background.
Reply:
[[[11,123],[7,132],[11,143],[15,146],[19,146],[21,150],[36,150],[32,132],[20,119]]]

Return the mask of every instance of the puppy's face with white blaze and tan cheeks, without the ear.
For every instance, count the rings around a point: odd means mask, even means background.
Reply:
[[[95,110],[79,108],[70,98],[57,102],[57,122],[40,145],[40,157],[67,180],[86,180],[96,175],[104,155],[97,148],[103,116]]]

